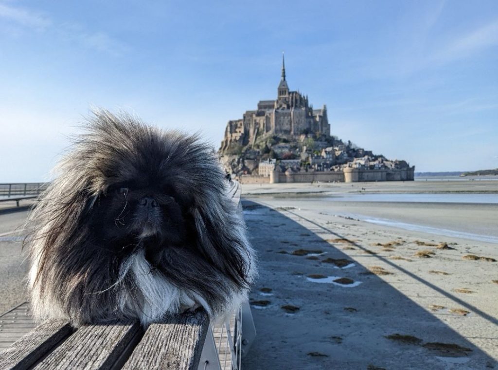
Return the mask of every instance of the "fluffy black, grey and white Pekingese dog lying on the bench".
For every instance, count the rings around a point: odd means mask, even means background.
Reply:
[[[86,127],[28,219],[34,315],[146,325],[236,308],[254,254],[214,151],[125,113]]]

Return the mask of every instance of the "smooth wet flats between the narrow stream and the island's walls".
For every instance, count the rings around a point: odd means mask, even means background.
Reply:
[[[498,243],[498,181],[244,185],[243,196],[271,200],[280,206],[292,200],[329,216],[370,220],[385,226],[403,223],[407,224],[406,231],[427,228],[432,229],[430,234],[440,236],[464,238],[466,233],[475,234],[468,238]],[[396,198],[415,201],[393,201]]]

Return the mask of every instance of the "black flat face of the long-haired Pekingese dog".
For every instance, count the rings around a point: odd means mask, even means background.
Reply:
[[[90,211],[93,237],[115,252],[129,252],[148,244],[191,245],[192,200],[160,179],[114,183],[103,191]],[[150,251],[152,252],[152,251]]]

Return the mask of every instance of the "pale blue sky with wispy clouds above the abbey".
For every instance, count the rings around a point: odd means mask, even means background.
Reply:
[[[89,108],[219,147],[291,90],[416,171],[498,167],[498,1],[0,0],[0,182],[43,181]]]

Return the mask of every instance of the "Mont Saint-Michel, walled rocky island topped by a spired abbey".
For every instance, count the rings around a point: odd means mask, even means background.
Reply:
[[[219,154],[242,183],[413,180],[415,166],[343,142],[330,129],[325,104],[315,109],[308,95],[290,91],[282,56],[276,99],[230,120]]]

